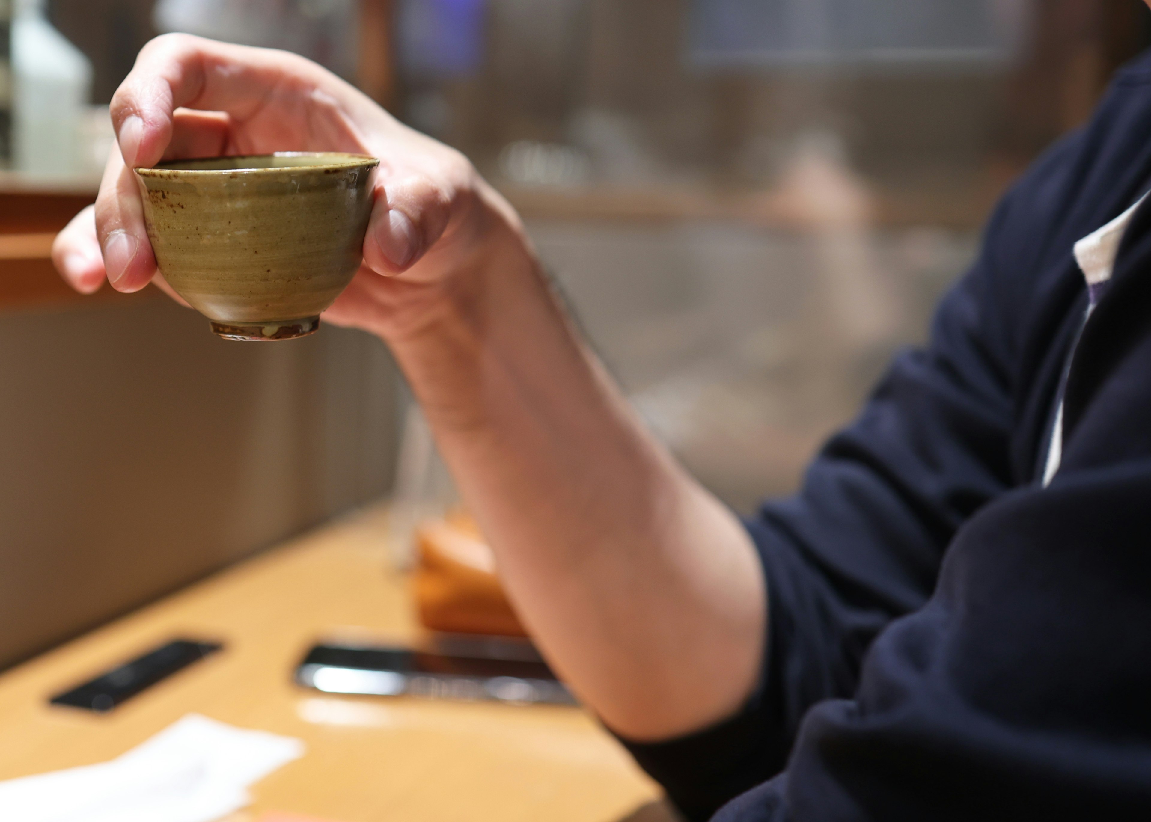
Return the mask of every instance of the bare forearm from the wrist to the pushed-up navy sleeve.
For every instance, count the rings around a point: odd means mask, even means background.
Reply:
[[[635,738],[722,718],[763,647],[750,541],[642,428],[498,222],[392,350],[510,598],[580,697]]]

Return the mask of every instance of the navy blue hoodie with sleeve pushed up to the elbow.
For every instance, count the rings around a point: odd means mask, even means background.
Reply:
[[[1149,187],[1143,55],[999,204],[928,348],[748,522],[759,686],[628,745],[689,819],[1151,820],[1151,204],[1085,325],[1072,256]]]

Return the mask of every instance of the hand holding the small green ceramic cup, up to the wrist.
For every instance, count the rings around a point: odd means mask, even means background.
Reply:
[[[155,282],[171,294],[157,271],[131,169],[185,157],[346,151],[380,158],[364,266],[325,314],[333,322],[395,337],[419,325],[452,274],[475,271],[470,264],[497,244],[529,257],[514,213],[463,155],[295,54],[159,37],[116,91],[112,121],[120,150],[108,158],[96,206],[81,212],[52,250],[64,280],[85,294],[105,279],[120,291]]]

